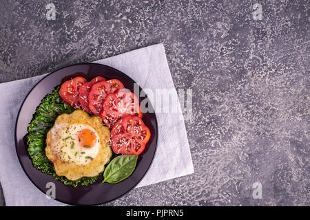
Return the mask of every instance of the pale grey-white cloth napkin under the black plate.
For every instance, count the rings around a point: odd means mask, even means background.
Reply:
[[[144,47],[94,63],[109,65],[121,70],[143,89],[150,89],[154,92],[156,89],[173,89],[176,95],[163,44]],[[6,206],[64,205],[54,199],[46,198],[32,184],[19,164],[14,146],[14,126],[21,102],[30,89],[44,76],[0,84],[0,181]],[[156,96],[152,97],[149,93],[146,92],[154,106]],[[136,187],[194,173],[179,102],[174,103],[174,107],[177,110],[176,113],[160,113],[164,107],[154,106],[158,120],[157,151],[152,166]]]

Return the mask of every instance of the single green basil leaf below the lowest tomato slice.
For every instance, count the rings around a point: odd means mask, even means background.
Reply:
[[[117,184],[132,175],[137,159],[138,155],[120,155],[112,159],[103,173],[103,183]]]

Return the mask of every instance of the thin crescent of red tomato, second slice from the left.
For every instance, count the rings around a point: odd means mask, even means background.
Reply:
[[[89,83],[84,83],[80,89],[79,89],[79,102],[81,103],[81,107],[83,109],[83,111],[92,114],[92,111],[90,111],[90,108],[88,107],[88,95],[90,94],[90,89],[92,89],[92,86],[95,83],[99,83],[102,81],[105,81],[106,79],[101,77],[101,76],[97,76],[95,78],[93,78]]]

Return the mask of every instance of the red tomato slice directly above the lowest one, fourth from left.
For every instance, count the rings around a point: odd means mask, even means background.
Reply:
[[[110,129],[125,115],[134,115],[142,118],[142,111],[138,98],[132,92],[119,91],[108,94],[103,102],[100,117]]]

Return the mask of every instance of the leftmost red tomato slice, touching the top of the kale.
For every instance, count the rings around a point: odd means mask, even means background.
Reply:
[[[59,89],[59,95],[65,103],[69,104],[74,109],[79,109],[81,107],[79,102],[79,89],[81,85],[86,82],[87,80],[81,76],[65,81]]]

